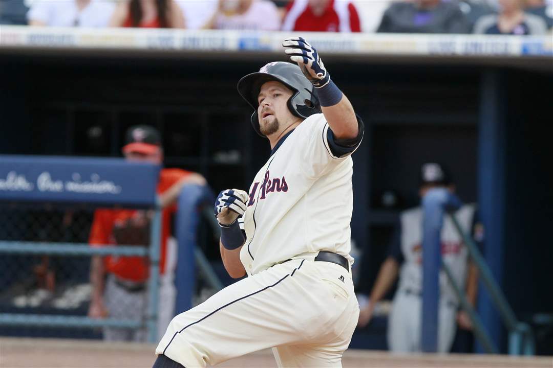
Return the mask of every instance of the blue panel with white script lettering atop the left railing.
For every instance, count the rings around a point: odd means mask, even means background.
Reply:
[[[0,155],[0,200],[153,207],[159,170],[122,158]]]

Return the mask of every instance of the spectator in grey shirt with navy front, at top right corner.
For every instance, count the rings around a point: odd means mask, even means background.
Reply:
[[[524,0],[499,0],[499,14],[486,15],[474,24],[474,33],[491,35],[543,35],[545,21],[524,12]]]

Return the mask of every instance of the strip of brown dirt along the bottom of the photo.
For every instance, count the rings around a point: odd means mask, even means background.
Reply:
[[[150,368],[149,344],[95,340],[13,339],[0,337],[0,368]],[[344,367],[517,367],[552,368],[553,357],[505,355],[392,355],[385,351],[348,350]],[[270,350],[224,362],[217,367],[276,367]]]

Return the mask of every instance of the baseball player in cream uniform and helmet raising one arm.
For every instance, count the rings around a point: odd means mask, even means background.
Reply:
[[[359,312],[349,156],[363,123],[311,45],[283,46],[297,65],[270,62],[238,82],[272,148],[267,163],[248,193],[223,190],[215,204],[225,268],[248,277],[173,318],[155,368],[205,367],[265,348],[281,367],[341,366]]]

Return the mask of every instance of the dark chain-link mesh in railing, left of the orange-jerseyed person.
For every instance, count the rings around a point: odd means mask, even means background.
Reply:
[[[0,203],[0,243],[87,243],[92,217],[86,206]],[[0,313],[86,316],[90,257],[1,253],[0,270]],[[101,337],[100,330],[36,326],[0,326],[0,334]]]

